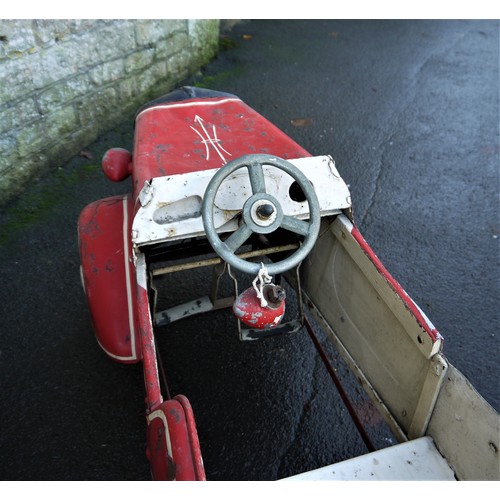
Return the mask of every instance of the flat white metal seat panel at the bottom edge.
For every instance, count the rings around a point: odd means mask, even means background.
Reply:
[[[454,481],[430,437],[285,478],[288,481]]]

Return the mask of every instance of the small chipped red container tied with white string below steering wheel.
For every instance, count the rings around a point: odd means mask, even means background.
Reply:
[[[263,286],[264,300],[257,296],[254,287],[250,287],[238,295],[233,304],[233,312],[250,328],[274,328],[280,324],[285,314],[285,297],[285,290],[278,285]]]

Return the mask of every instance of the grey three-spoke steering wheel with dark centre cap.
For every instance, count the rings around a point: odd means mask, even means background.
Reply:
[[[266,192],[263,165],[277,167],[295,179],[309,204],[309,221],[283,214],[279,201]],[[244,167],[248,169],[252,196],[243,205],[240,227],[222,241],[214,225],[215,197],[222,182]],[[275,275],[288,271],[305,259],[316,242],[321,222],[318,198],[307,177],[290,162],[266,154],[245,155],[221,167],[205,190],[201,215],[207,239],[215,252],[232,267],[248,274],[257,274],[260,264],[248,262],[238,257],[235,252],[253,233],[268,234],[281,227],[304,236],[302,245],[292,255],[266,266],[267,272]]]

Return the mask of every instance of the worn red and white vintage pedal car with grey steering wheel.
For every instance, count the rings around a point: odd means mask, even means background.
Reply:
[[[154,479],[206,479],[189,400],[162,394],[155,331],[221,308],[242,342],[302,328],[314,342],[317,322],[399,440],[289,479],[499,479],[498,414],[360,234],[332,157],[234,95],[183,87],[142,107],[133,153],[102,168],[132,190],[81,212],[82,282],[103,351],[142,363]],[[210,293],[158,310],[161,276],[208,266]],[[285,283],[299,301],[286,321]]]

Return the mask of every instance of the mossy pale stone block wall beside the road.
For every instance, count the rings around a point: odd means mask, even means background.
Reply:
[[[0,205],[207,63],[218,20],[0,20]]]

